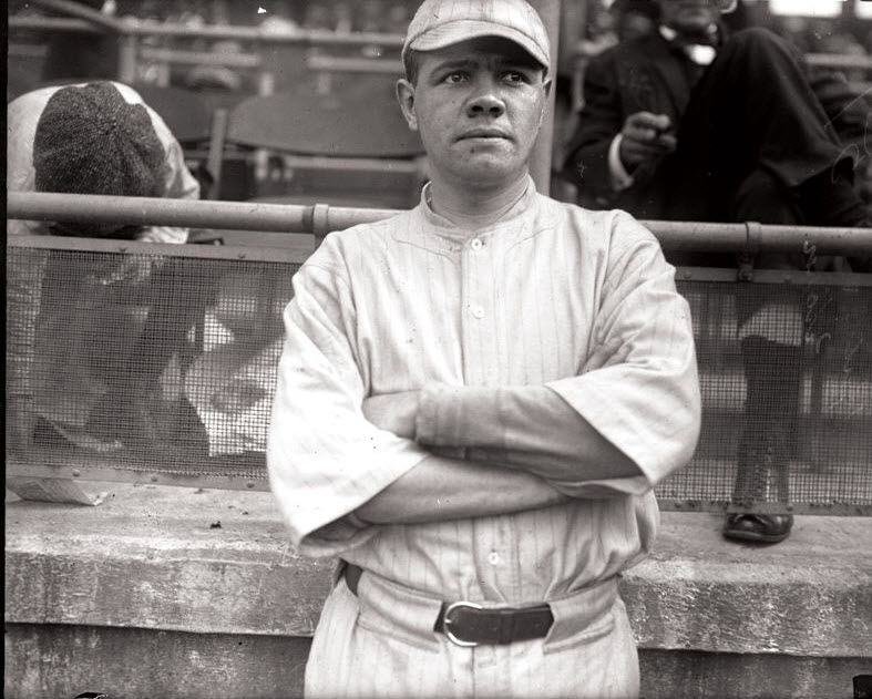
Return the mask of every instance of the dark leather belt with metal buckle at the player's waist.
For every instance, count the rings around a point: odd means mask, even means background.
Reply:
[[[363,569],[346,563],[348,589],[357,595]],[[483,608],[472,602],[443,602],[433,630],[444,634],[458,646],[501,646],[519,640],[544,638],[554,615],[547,604],[532,607]]]

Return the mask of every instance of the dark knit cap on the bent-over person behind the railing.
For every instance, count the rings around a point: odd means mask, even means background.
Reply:
[[[37,124],[38,192],[161,196],[165,163],[148,112],[109,82],[59,90]]]

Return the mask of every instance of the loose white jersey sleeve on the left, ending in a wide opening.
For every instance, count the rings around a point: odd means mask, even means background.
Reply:
[[[316,255],[329,246],[329,238]],[[377,526],[349,513],[428,456],[369,423],[356,362],[355,305],[334,271],[307,263],[285,311],[286,339],[267,440],[270,485],[300,553],[337,555]],[[325,526],[329,525],[329,526]]]

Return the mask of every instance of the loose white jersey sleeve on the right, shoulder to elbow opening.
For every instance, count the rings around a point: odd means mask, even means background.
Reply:
[[[547,386],[629,456],[644,482],[591,482],[638,494],[685,466],[699,439],[701,401],[690,308],[654,236],[626,214],[613,245],[581,376]]]

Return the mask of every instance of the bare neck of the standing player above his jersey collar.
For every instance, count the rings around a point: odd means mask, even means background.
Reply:
[[[459,228],[494,224],[521,201],[527,189],[527,173],[495,188],[460,188],[440,179],[430,184],[430,208]]]

